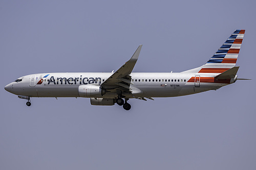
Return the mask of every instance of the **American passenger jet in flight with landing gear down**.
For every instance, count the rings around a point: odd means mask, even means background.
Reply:
[[[132,58],[112,72],[55,72],[27,75],[5,86],[5,90],[30,98],[90,98],[91,105],[115,103],[130,110],[129,99],[166,98],[217,90],[238,79],[236,66],[245,30],[235,30],[202,66],[182,72],[132,72],[139,45]],[[245,80],[245,79],[241,79]]]

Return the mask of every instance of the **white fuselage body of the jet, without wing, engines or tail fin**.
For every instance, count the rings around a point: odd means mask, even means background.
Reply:
[[[78,93],[79,86],[85,84],[100,85],[112,74],[112,72],[60,72],[34,74],[19,78],[22,79],[22,81],[12,82],[6,86],[6,89],[13,94],[29,97],[77,98],[81,97]],[[199,74],[191,72],[134,72],[131,74],[131,90],[133,91],[133,94],[126,96],[129,98],[182,96],[218,89],[234,82],[234,80],[228,80],[228,82],[202,81],[203,78],[214,79],[215,76],[216,74]],[[197,80],[195,77],[197,77]],[[118,96],[116,91],[113,91],[113,93],[109,92],[93,97],[117,98]]]

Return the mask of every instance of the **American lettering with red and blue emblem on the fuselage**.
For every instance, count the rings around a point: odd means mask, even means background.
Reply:
[[[44,78],[48,77],[49,75],[46,75]],[[46,81],[46,80],[45,80]],[[50,79],[47,80],[48,84],[93,84],[98,83],[101,84],[101,78],[87,78],[87,77],[78,77],[78,78],[66,78],[66,77],[57,77],[54,78],[54,76],[51,76]],[[44,79],[40,79],[37,84],[42,84],[44,82]]]

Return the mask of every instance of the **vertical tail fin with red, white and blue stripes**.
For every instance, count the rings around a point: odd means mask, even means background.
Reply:
[[[220,74],[236,66],[244,33],[245,30],[234,31],[234,33],[226,40],[226,42],[223,43],[219,50],[209,59],[206,64],[184,72],[206,72]]]

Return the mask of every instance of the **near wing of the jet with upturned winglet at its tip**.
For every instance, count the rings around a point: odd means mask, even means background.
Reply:
[[[101,84],[104,89],[119,88],[121,90],[131,92],[130,84],[132,84],[132,78],[130,74],[139,58],[141,47],[142,45],[139,45],[132,58],[124,63],[116,72],[114,72],[113,75]]]

